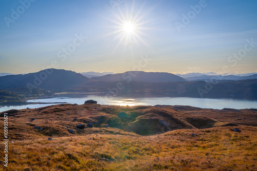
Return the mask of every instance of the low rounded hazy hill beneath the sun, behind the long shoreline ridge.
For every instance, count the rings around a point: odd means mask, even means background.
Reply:
[[[141,81],[141,82],[185,82],[186,80],[164,72],[127,71],[120,74],[108,74],[101,77],[93,77],[97,81]]]

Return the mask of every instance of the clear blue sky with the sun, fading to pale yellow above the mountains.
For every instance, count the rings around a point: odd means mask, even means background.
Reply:
[[[0,73],[256,72],[256,9],[256,0],[0,0]]]

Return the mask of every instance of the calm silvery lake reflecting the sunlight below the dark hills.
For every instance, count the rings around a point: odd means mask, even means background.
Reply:
[[[3,106],[0,112],[11,109],[26,109],[26,108],[40,108],[47,105],[54,105],[56,103],[77,103],[84,104],[85,100],[93,99],[98,104],[107,105],[191,105],[198,108],[211,109],[249,109],[257,108],[257,101],[252,100],[236,100],[236,99],[206,99],[206,98],[189,98],[189,97],[116,97],[116,96],[100,96],[92,94],[58,94],[54,98],[34,99],[28,102],[45,102],[47,104],[29,104],[20,106]]]

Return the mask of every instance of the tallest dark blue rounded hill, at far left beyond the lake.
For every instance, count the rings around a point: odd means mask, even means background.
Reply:
[[[87,82],[89,79],[73,71],[47,69],[25,75],[7,75],[0,77],[0,89],[41,88],[62,90]]]

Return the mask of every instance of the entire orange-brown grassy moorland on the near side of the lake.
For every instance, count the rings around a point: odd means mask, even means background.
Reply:
[[[58,104],[5,113],[6,170],[257,169],[256,109]]]

